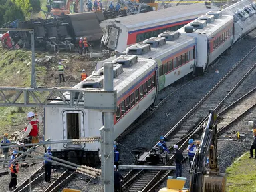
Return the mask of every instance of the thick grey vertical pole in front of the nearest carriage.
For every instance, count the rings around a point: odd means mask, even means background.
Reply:
[[[113,64],[104,63],[104,91],[113,91]],[[104,191],[114,191],[114,113],[104,112],[104,127],[100,129],[102,136],[101,162]]]

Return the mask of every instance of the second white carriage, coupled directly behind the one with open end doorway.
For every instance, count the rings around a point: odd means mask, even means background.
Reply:
[[[143,43],[128,47],[126,51],[117,54],[116,57],[128,54],[154,59],[158,63],[158,91],[160,91],[193,71],[196,61],[195,47],[194,37],[166,31],[159,37],[152,37]],[[97,63],[96,69],[100,69],[104,62],[114,58],[100,61]]]

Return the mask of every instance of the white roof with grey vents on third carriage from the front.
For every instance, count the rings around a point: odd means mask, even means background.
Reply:
[[[207,37],[211,37],[231,24],[233,24],[233,16],[222,15],[221,11],[209,11],[206,15],[202,15],[178,31],[180,33],[203,33]]]

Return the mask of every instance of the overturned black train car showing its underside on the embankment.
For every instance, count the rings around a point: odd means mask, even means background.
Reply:
[[[100,42],[103,35],[100,22],[104,19],[102,12],[78,13],[63,15],[63,17],[54,19],[33,19],[19,22],[17,28],[34,29],[36,49],[50,52],[74,51],[74,44],[78,43],[80,37],[87,37],[90,43]],[[7,33],[13,42],[5,43],[7,41],[2,38],[2,43],[6,44],[6,47],[12,48],[17,44],[19,47],[27,49],[31,47],[31,34],[29,32]]]

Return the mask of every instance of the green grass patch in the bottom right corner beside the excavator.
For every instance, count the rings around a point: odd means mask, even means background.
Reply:
[[[249,152],[226,170],[228,192],[256,192],[256,160],[249,159]]]

